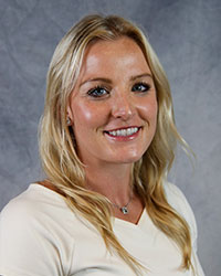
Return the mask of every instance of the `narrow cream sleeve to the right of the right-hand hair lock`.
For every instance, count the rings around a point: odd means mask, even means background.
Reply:
[[[192,209],[181,190],[169,182],[166,183],[166,195],[168,203],[187,221],[192,240],[192,264],[196,276],[204,276],[199,258],[197,256],[198,229]]]

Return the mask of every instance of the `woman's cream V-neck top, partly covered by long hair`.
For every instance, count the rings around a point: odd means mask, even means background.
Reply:
[[[181,191],[165,184],[169,203],[187,220],[193,241],[192,262],[203,276],[196,255],[197,226]],[[148,276],[192,276],[180,270],[177,245],[152,224],[144,211],[138,224],[115,219],[122,245],[145,267]],[[36,183],[8,203],[0,214],[0,275],[3,276],[133,276],[134,272],[109,254],[97,230],[76,216],[63,198]]]

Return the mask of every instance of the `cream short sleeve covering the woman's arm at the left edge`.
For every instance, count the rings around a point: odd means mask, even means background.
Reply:
[[[0,275],[60,276],[61,256],[33,203],[10,202],[0,214]]]

